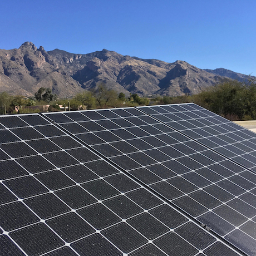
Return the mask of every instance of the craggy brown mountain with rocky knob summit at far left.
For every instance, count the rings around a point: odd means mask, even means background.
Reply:
[[[50,87],[61,97],[81,90],[80,84],[58,67],[43,49],[31,42],[13,50],[0,50],[0,91],[33,96],[40,87]]]

